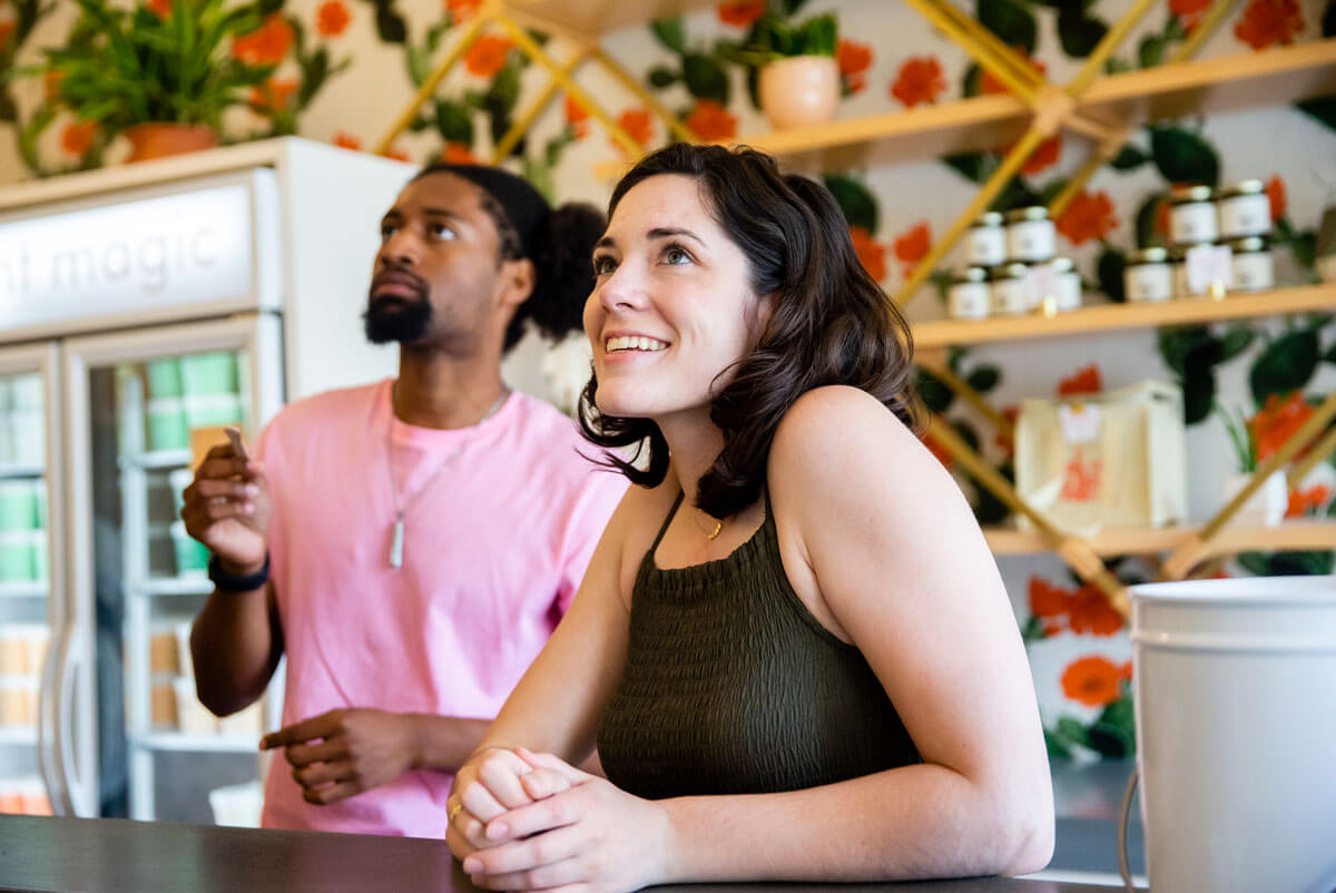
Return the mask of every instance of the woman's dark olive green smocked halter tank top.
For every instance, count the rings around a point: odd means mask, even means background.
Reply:
[[[728,557],[636,575],[627,666],[599,725],[608,778],[652,799],[814,787],[919,762],[858,648],[794,592],[768,507]],[[886,598],[892,598],[887,594]]]

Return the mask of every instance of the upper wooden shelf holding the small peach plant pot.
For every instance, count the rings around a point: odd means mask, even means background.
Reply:
[[[1189,114],[1237,111],[1336,92],[1336,37],[1265,52],[1186,61],[1096,80],[1077,111],[1140,126]],[[975,96],[815,127],[743,136],[792,170],[816,172],[997,148],[1019,139],[1029,107],[1010,95]],[[595,167],[612,180],[624,160]]]

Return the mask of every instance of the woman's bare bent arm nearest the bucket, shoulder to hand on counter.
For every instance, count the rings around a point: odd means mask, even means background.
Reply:
[[[768,479],[795,591],[863,652],[923,763],[808,790],[660,802],[570,773],[570,790],[492,819],[492,849],[465,864],[476,880],[612,893],[1027,873],[1047,862],[1053,802],[1033,682],[959,488],[848,388],[795,405]]]

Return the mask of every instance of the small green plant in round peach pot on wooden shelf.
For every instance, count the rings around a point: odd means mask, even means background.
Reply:
[[[834,13],[791,21],[804,1],[770,0],[732,53],[749,70],[756,103],[776,130],[830,120],[839,106],[839,25]]]

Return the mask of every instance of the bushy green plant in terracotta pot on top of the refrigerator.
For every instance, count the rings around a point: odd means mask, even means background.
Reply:
[[[40,127],[59,110],[96,124],[94,156],[118,134],[131,143],[128,160],[208,148],[223,112],[246,106],[274,72],[230,56],[227,45],[257,31],[282,0],[159,0],[132,11],[107,0],[76,3],[67,44],[45,49],[45,64],[27,74],[49,86]]]

